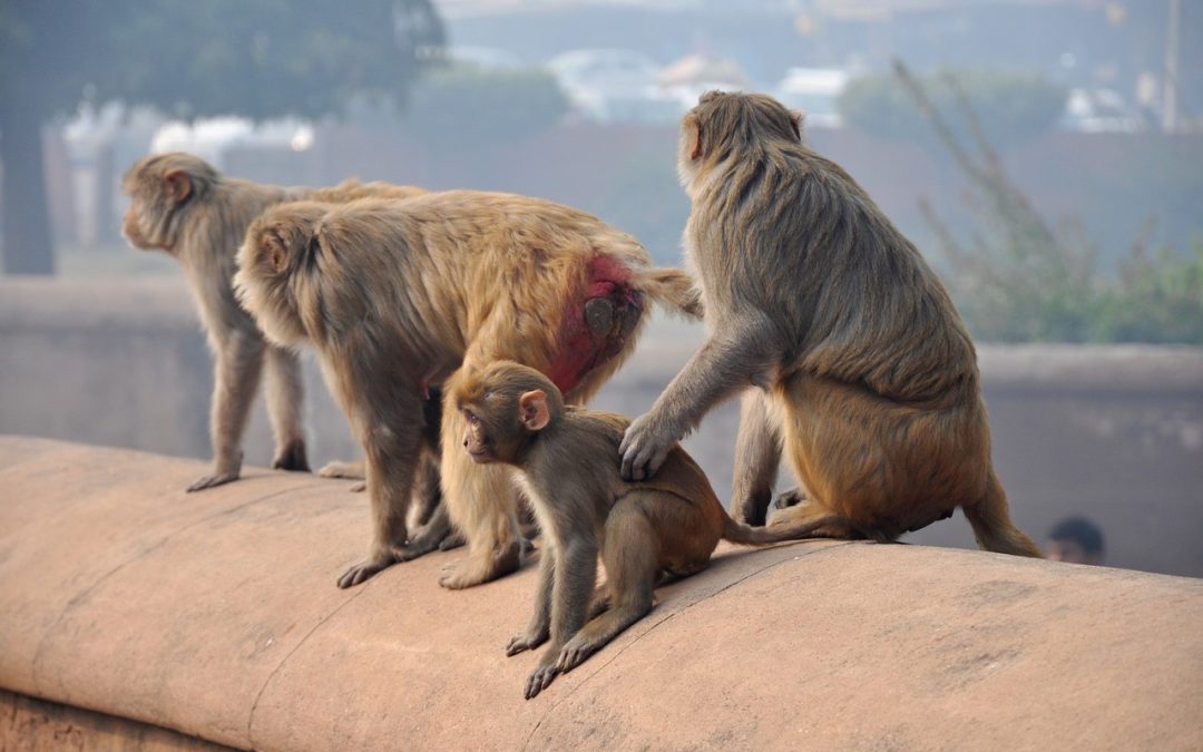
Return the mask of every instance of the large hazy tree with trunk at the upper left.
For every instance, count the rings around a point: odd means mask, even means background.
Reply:
[[[0,0],[4,270],[54,256],[41,126],[84,101],[185,119],[337,112],[402,101],[443,25],[429,0]]]

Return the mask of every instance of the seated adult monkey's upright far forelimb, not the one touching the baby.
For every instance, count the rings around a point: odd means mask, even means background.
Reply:
[[[781,464],[781,434],[769,414],[769,397],[758,389],[743,393],[735,438],[731,516],[745,525],[764,525],[772,484]]]

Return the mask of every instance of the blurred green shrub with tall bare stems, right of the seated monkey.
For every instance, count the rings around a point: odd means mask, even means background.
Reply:
[[[1203,344],[1203,237],[1186,254],[1163,247],[1150,256],[1144,243],[1136,243],[1118,276],[1103,273],[1086,232],[1072,223],[1050,225],[1011,180],[964,99],[955,103],[976,152],[956,138],[921,83],[901,65],[896,73],[970,180],[978,227],[968,242],[930,206],[920,208],[940,238],[950,292],[976,337]]]

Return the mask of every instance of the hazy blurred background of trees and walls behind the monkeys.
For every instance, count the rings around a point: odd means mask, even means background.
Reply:
[[[0,432],[208,458],[177,265],[119,237],[120,177],[147,153],[543,196],[672,265],[677,124],[709,89],[804,111],[941,272],[1021,527],[1043,541],[1086,515],[1104,563],[1203,576],[1189,0],[0,0]],[[700,337],[657,319],[597,404],[646,410]],[[354,456],[308,377],[310,458]],[[688,443],[723,497],[735,414]],[[248,461],[269,444],[257,415]],[[909,540],[972,545],[964,520]]]

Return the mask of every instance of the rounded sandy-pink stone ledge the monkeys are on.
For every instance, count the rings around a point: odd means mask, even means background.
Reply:
[[[452,551],[339,591],[368,532],[350,484],[184,495],[205,467],[0,437],[0,688],[265,750],[1203,747],[1203,580],[724,549],[525,701],[535,657],[503,646],[531,567],[449,592]]]

